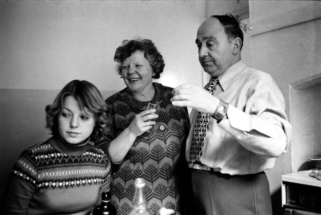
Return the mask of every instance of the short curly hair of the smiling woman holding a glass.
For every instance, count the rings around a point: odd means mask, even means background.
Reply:
[[[148,60],[153,72],[155,72],[152,78],[159,79],[160,73],[163,72],[165,66],[163,56],[157,50],[152,40],[142,40],[140,37],[133,40],[124,40],[122,45],[116,49],[114,61],[118,62],[116,67],[118,74],[121,75],[123,61],[137,50],[144,52],[144,57]]]

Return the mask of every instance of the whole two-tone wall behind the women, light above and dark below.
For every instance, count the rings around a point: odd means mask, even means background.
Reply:
[[[0,177],[22,150],[50,137],[45,111],[73,79],[105,98],[123,89],[113,56],[124,39],[151,39],[164,57],[166,86],[203,86],[195,45],[199,1],[0,1]],[[1,201],[0,201],[1,202]]]

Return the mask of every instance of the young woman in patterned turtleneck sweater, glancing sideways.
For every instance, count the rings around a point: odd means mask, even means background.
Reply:
[[[45,110],[53,136],[20,155],[2,214],[91,214],[111,180],[107,154],[91,142],[106,135],[107,106],[93,84],[73,80]]]

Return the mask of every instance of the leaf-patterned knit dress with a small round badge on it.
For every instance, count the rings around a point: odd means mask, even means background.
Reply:
[[[155,96],[150,101],[160,105],[159,117],[152,132],[138,136],[124,161],[113,172],[111,200],[119,215],[132,210],[135,178],[144,178],[148,208],[159,214],[161,207],[174,209],[184,214],[182,200],[187,172],[185,144],[189,132],[189,117],[186,107],[176,107],[170,102],[172,88],[153,83]],[[106,139],[99,144],[108,153],[109,143],[134,119],[146,110],[148,102],[131,97],[126,88],[106,100],[112,114],[112,124]],[[182,179],[183,178],[183,179]],[[185,195],[186,196],[186,195]]]

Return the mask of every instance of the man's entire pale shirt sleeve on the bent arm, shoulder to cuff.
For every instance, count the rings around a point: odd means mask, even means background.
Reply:
[[[265,77],[252,88],[244,111],[230,105],[228,120],[222,120],[219,126],[247,150],[278,157],[286,152],[291,139],[291,125],[284,109],[281,91],[270,76]]]

